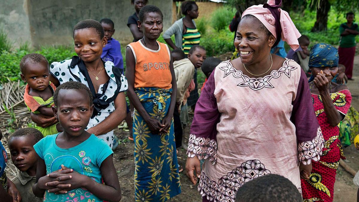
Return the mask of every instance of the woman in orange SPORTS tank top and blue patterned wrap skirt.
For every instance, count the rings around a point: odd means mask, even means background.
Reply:
[[[135,107],[135,200],[168,201],[181,193],[174,142],[176,77],[168,46],[157,41],[162,12],[144,6],[138,25],[144,37],[126,47],[127,96]]]

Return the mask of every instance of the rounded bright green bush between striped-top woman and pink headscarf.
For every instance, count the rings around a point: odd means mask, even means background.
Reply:
[[[227,6],[218,8],[212,13],[211,26],[217,31],[227,28],[234,13],[234,10]]]

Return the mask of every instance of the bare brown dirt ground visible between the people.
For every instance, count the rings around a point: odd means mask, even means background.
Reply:
[[[354,64],[354,81],[349,81],[348,87],[353,96],[352,105],[355,109],[359,109],[359,55],[355,57]],[[202,86],[199,84],[199,86]],[[186,128],[185,136],[188,139],[189,127]],[[127,141],[127,132],[118,130],[118,137],[120,138],[120,145],[115,150],[114,162],[118,173],[122,189],[122,200],[132,202],[134,200],[134,144]],[[183,149],[178,150],[178,162],[183,167],[186,164],[186,151]],[[344,149],[344,155],[347,158],[348,164],[355,171],[359,170],[359,151],[354,146]],[[201,197],[197,192],[197,186],[192,186],[191,182],[187,179],[184,172],[181,173],[182,193],[174,198],[172,201],[181,202],[200,202]],[[339,166],[336,175],[336,183],[334,186],[334,201],[336,202],[354,202],[356,201],[356,192],[358,187],[353,183],[353,177]]]

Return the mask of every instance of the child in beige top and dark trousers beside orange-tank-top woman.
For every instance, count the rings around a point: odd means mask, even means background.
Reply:
[[[183,133],[180,111],[183,104],[183,98],[185,97],[187,88],[190,86],[193,75],[195,73],[195,66],[192,64],[191,60],[186,57],[185,53],[181,49],[174,49],[172,51],[172,59],[174,75],[176,75],[177,83],[176,108],[173,113],[173,124],[176,148],[178,148],[182,146],[182,143],[185,145],[183,142],[184,139],[182,138]],[[183,168],[180,166],[179,172],[182,170]]]

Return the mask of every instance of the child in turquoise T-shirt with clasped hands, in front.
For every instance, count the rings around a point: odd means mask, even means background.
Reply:
[[[64,132],[34,145],[39,158],[33,193],[43,201],[120,201],[113,152],[103,139],[85,131],[94,110],[90,89],[66,82],[53,100],[52,110]]]

